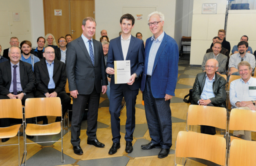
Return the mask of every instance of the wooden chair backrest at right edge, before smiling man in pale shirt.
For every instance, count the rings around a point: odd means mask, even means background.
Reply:
[[[231,109],[229,130],[256,131],[256,111],[247,109]]]

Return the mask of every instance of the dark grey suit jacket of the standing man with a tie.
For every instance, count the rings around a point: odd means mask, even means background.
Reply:
[[[108,85],[105,60],[101,42],[93,39],[94,66],[82,37],[73,40],[67,46],[66,71],[70,91],[79,94],[91,94],[94,86],[98,93],[101,85]]]

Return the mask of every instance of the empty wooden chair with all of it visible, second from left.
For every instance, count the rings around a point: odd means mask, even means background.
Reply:
[[[34,144],[39,142],[27,143],[27,135],[55,135],[61,133],[61,162],[63,162],[63,129],[62,129],[62,109],[61,99],[58,97],[51,98],[28,98],[25,102],[25,118],[33,118],[36,116],[61,116],[61,122],[54,122],[51,124],[26,124],[25,120],[25,165],[27,157],[27,144]]]

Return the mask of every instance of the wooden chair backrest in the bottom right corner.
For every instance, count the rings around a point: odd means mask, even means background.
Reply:
[[[255,166],[256,142],[233,140],[229,151],[229,166]]]

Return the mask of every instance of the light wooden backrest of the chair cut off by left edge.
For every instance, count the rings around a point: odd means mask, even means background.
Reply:
[[[20,99],[0,100],[0,118],[22,119],[22,104]]]

